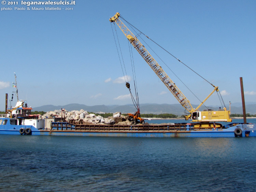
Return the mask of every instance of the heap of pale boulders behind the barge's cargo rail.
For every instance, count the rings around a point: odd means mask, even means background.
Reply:
[[[61,118],[61,110],[54,110],[47,112],[43,116],[40,116],[40,119],[45,118]],[[64,120],[65,117],[65,120]],[[87,111],[81,109],[78,110],[72,110],[72,111],[63,111],[62,112],[62,121],[71,122],[74,124],[107,124],[107,125],[131,125],[134,122],[131,122],[128,120],[128,116],[122,115],[120,112],[116,112],[113,114],[113,116],[110,116],[108,118],[103,118],[102,116],[98,115],[96,116],[93,113],[88,113]]]

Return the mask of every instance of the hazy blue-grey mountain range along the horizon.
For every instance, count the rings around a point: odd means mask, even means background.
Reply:
[[[192,105],[193,107],[197,107],[198,105]],[[68,111],[71,110],[80,110],[84,109],[87,112],[106,112],[106,113],[115,113],[115,112],[121,112],[121,113],[134,113],[136,112],[136,108],[131,105],[94,105],[94,106],[87,106],[83,104],[68,104],[68,105],[43,105],[41,107],[34,107],[33,111],[54,111],[56,109],[63,109],[65,108]],[[211,106],[210,109],[218,110],[219,107],[217,106]],[[229,106],[227,106],[229,109]],[[253,104],[247,104],[245,106],[246,113],[250,114],[256,114],[256,103]],[[205,107],[200,107],[200,110],[205,109]],[[171,113],[174,115],[183,115],[184,114],[184,108],[180,104],[140,104],[140,112],[142,114],[163,114],[163,113]],[[242,104],[236,103],[231,105],[231,113],[233,114],[242,114]]]

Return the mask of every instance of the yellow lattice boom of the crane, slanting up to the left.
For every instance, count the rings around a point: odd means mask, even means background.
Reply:
[[[194,112],[193,107],[190,102],[184,96],[184,94],[180,91],[179,88],[173,83],[170,77],[163,71],[161,66],[156,62],[156,60],[148,53],[146,48],[141,44],[141,42],[136,38],[134,34],[124,25],[124,23],[118,18],[120,16],[119,13],[116,13],[114,17],[110,18],[110,22],[115,22],[118,27],[123,31],[127,39],[133,45],[134,48],[139,52],[139,54],[143,57],[143,59],[147,62],[147,64],[153,69],[156,75],[161,79],[163,84],[171,91],[173,96],[179,101],[179,103],[189,112]]]

